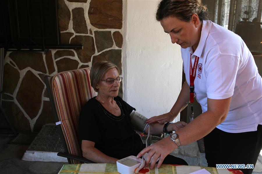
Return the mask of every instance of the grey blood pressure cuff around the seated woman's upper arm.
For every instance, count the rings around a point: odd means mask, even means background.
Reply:
[[[131,124],[134,126],[135,130],[144,133],[148,126],[148,123],[145,123],[147,118],[135,110],[131,112],[130,118],[131,118]]]

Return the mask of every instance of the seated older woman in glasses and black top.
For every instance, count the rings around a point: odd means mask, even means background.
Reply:
[[[146,118],[141,115],[133,119],[131,113],[136,109],[118,97],[122,81],[118,68],[107,61],[97,62],[91,68],[90,78],[98,95],[85,104],[79,118],[83,156],[97,163],[116,163],[130,155],[136,156],[145,145],[134,127],[139,129],[140,126],[140,130],[148,133],[148,126],[143,121]],[[177,131],[185,125],[185,122],[177,122],[165,129]],[[150,134],[163,133],[164,124],[153,123],[149,126]],[[184,160],[172,155],[165,158],[164,164],[187,165]]]

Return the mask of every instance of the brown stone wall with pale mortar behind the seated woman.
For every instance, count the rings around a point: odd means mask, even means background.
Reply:
[[[6,52],[2,105],[18,132],[38,132],[54,122],[45,75],[101,60],[122,69],[122,11],[122,0],[58,0],[61,44],[81,43],[83,49]]]

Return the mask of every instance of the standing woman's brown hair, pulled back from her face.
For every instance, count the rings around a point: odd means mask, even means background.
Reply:
[[[158,4],[156,19],[160,21],[168,16],[174,16],[182,21],[190,21],[196,13],[201,21],[208,19],[208,9],[201,0],[162,0]]]

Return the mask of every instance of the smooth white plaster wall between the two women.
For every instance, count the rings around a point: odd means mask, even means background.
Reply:
[[[147,118],[170,111],[182,81],[180,46],[156,21],[158,2],[123,1],[123,98]]]

